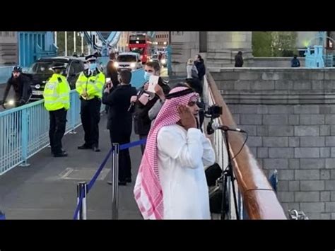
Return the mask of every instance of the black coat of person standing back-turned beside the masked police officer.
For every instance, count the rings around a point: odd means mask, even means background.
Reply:
[[[111,93],[103,93],[102,103],[109,105],[107,129],[114,132],[131,133],[132,117],[128,112],[131,96],[136,95],[136,88],[131,85],[119,85]]]

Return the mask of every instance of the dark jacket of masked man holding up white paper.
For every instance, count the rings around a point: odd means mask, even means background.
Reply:
[[[159,78],[158,84],[163,88],[163,92],[165,95],[170,92],[170,87],[167,86],[161,78]],[[137,97],[139,98],[143,94],[143,87],[140,89]],[[149,118],[148,112],[151,110],[153,105],[155,105],[156,101],[159,99],[158,95],[154,95],[154,97],[148,101],[146,105],[143,105],[139,100],[135,103],[135,111],[134,111],[134,132],[138,135],[148,135],[151,127],[151,119]]]

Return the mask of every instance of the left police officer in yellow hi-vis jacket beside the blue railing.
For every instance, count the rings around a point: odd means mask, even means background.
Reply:
[[[67,153],[61,148],[61,139],[66,126],[66,112],[70,107],[70,86],[66,78],[61,75],[64,69],[66,69],[64,64],[55,63],[52,66],[54,74],[45,84],[43,91],[45,109],[49,111],[49,139],[54,157],[67,156]]]

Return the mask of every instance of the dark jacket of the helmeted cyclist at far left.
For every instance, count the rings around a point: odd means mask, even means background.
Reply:
[[[8,78],[7,86],[4,93],[4,101],[6,100],[9,90],[11,89],[11,86],[13,86],[15,91],[15,100],[21,101],[23,105],[24,103],[28,102],[28,99],[31,95],[31,80],[28,76],[25,76],[24,74],[20,74],[18,78],[13,78],[13,75],[11,78]]]

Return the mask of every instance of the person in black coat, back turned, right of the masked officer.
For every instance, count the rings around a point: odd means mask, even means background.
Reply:
[[[102,103],[109,105],[107,129],[110,130],[110,142],[128,144],[132,131],[132,117],[129,112],[131,97],[136,96],[136,88],[129,83],[130,71],[120,72],[121,83],[114,88],[107,86],[102,95]],[[129,149],[119,151],[119,185],[127,185],[131,182],[131,160]],[[110,184],[111,182],[109,182]]]

